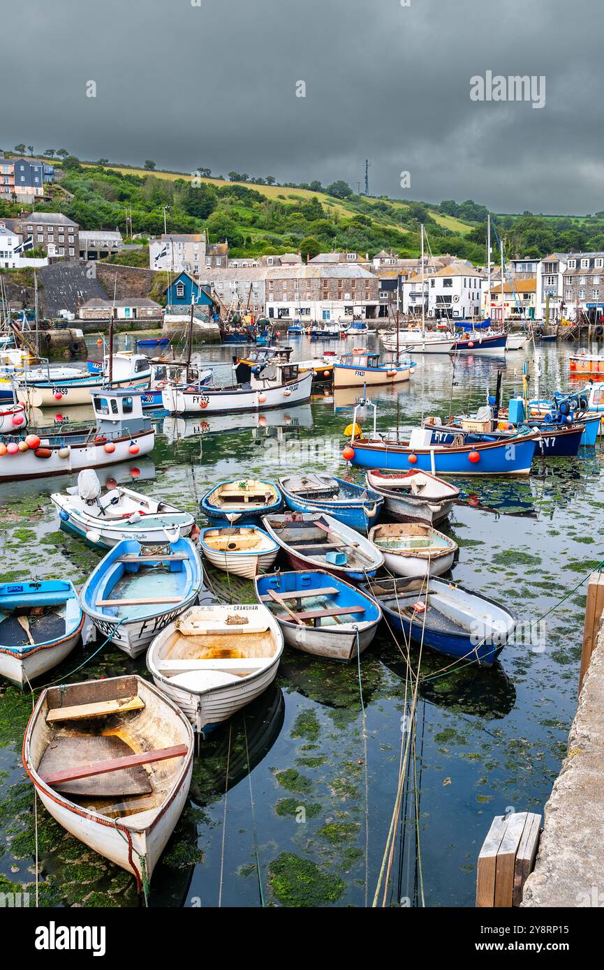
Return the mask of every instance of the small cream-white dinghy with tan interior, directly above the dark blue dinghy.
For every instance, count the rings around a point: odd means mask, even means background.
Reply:
[[[371,541],[384,553],[386,568],[398,576],[441,576],[453,566],[459,548],[448,535],[422,522],[374,526]]]

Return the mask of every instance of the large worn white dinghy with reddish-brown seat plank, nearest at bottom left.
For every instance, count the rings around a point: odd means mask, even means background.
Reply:
[[[44,691],[22,757],[52,818],[141,889],[185,806],[193,743],[161,691],[114,677]]]

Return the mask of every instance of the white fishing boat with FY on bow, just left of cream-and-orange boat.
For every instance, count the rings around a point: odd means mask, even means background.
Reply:
[[[300,374],[296,364],[269,361],[250,367],[240,363],[234,369],[236,383],[228,387],[189,389],[167,384],[162,403],[171,414],[219,414],[261,411],[271,407],[301,404],[311,396],[313,372]]]

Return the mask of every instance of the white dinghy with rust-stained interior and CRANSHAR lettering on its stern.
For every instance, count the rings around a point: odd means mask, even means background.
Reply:
[[[272,684],[283,649],[265,606],[197,606],[158,633],[147,666],[157,687],[206,734]]]

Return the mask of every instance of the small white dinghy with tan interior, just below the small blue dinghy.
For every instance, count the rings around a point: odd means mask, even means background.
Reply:
[[[199,546],[213,566],[248,579],[267,572],[279,552],[279,543],[257,526],[202,529]]]

